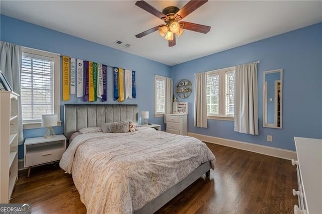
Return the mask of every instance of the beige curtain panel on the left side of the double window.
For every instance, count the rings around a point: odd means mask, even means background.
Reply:
[[[196,127],[208,128],[207,124],[207,73],[197,73],[195,76],[195,115]]]

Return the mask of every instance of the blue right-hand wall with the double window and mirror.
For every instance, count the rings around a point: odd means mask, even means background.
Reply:
[[[319,23],[173,66],[174,82],[186,78],[194,85],[194,73],[261,61],[258,136],[233,132],[231,121],[208,120],[208,129],[194,127],[194,91],[184,99],[189,102],[189,132],[290,150],[295,150],[294,136],[322,138],[321,47],[322,23]],[[263,128],[263,71],[280,68],[283,69],[283,129]],[[266,141],[266,135],[273,136],[272,143]]]

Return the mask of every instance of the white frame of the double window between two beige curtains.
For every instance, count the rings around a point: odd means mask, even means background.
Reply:
[[[226,72],[234,71],[235,67],[223,68],[207,72],[208,75],[219,74],[219,114],[218,115],[208,115],[207,119],[210,120],[223,120],[223,121],[233,121],[234,116],[226,116]]]

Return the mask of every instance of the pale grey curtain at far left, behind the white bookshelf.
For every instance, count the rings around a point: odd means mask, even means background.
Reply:
[[[13,91],[20,95],[20,76],[22,64],[22,48],[19,45],[3,42],[0,43],[0,69],[5,74]],[[22,124],[21,98],[18,101],[19,118],[18,118],[18,137],[19,145],[24,143],[24,130]]]

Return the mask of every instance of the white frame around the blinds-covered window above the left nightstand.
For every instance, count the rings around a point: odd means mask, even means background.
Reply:
[[[54,114],[58,117],[57,126],[61,126],[60,121],[60,55],[57,53],[22,47],[22,55],[38,55],[39,58],[52,58],[54,62]],[[42,128],[41,120],[23,121],[24,129]]]

